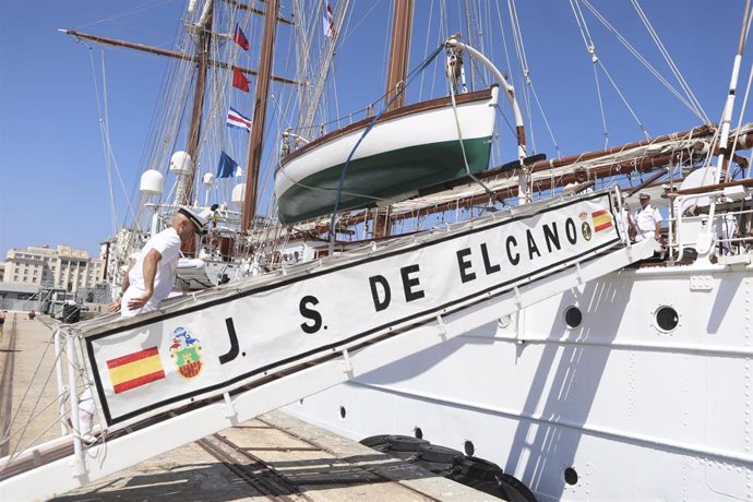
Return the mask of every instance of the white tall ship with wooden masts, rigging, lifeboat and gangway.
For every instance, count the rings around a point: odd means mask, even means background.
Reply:
[[[297,0],[289,13],[191,0],[176,49],[65,29],[171,61],[139,200],[108,242],[113,288],[179,206],[213,216],[160,310],[56,333],[71,425],[0,459],[0,493],[61,493],[285,407],[387,453],[438,446],[438,475],[482,466],[511,500],[752,498],[750,2],[708,14],[734,34],[704,61],[728,83],[717,121],[637,0],[623,11],[677,84],[622,20],[562,3],[537,14],[571,16],[602,125],[596,150],[567,155],[537,86],[566,100],[576,84],[537,80],[514,0]],[[350,113],[333,106],[356,103],[340,69],[366,76],[383,61],[359,38],[369,29],[389,49],[386,85]],[[625,73],[605,61],[618,45],[645,67],[631,74],[641,94],[650,75],[686,108],[684,129],[648,134]],[[610,138],[614,103],[637,140]],[[537,146],[547,136],[553,155]],[[118,369],[142,360],[154,371]],[[86,392],[92,441],[75,427]],[[168,433],[189,421],[200,426]],[[146,441],[154,452],[132,453]],[[57,456],[39,465],[39,451]]]

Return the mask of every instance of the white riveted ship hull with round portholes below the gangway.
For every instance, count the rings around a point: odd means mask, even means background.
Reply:
[[[288,409],[356,440],[473,443],[539,500],[750,500],[746,259],[613,273]]]

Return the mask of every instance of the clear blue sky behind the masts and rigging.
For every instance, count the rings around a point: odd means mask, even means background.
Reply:
[[[113,217],[92,55],[85,46],[58,33],[57,28],[80,28],[171,48],[183,1],[2,3],[0,259],[10,248],[39,244],[69,244],[96,255],[98,243],[112,234],[113,226],[123,222],[123,205],[121,201]],[[381,0],[378,7],[386,8],[390,3]],[[517,3],[535,86],[562,153],[600,148],[603,134],[598,101],[594,98],[591,64],[569,2],[518,0]],[[593,3],[664,75],[671,76],[645,28],[637,23],[629,1],[594,0]],[[721,112],[743,3],[741,0],[642,2],[712,119],[717,119]],[[439,4],[433,2],[434,12]],[[351,28],[373,5],[370,0],[355,1]],[[283,8],[284,13],[289,12],[289,2],[283,1]],[[429,26],[421,23],[431,8],[429,0],[417,1],[415,23],[419,33],[429,32]],[[381,50],[385,45],[383,35],[379,41],[374,38],[386,31],[386,14],[372,12],[372,15],[375,17],[358,25],[348,36],[354,51],[338,51],[338,94],[345,101],[340,105],[342,113],[348,111],[348,103],[354,110],[359,109],[383,92],[383,72],[374,70],[381,65],[382,56],[364,55],[374,48]],[[697,119],[658,86],[593,16],[587,19],[602,61],[652,134],[698,124]],[[414,41],[411,67],[420,60],[423,47],[423,40]],[[101,79],[98,48],[93,56],[96,77]],[[153,110],[166,67],[157,57],[124,49],[108,49],[105,59],[110,138],[123,186],[130,191],[142,169],[146,135],[154,120]],[[502,69],[506,67],[504,61],[495,62]],[[750,68],[748,53],[742,67],[740,100]],[[287,76],[294,75],[288,73]],[[603,80],[601,84],[611,144],[640,139],[641,131],[619,97],[605,87]],[[101,95],[99,97],[103,99]],[[536,118],[534,129],[538,150],[551,154],[552,145],[540,117]],[[116,180],[116,190],[122,193],[119,186]]]

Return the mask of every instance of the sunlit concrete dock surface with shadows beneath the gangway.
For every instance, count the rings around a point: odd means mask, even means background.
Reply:
[[[25,313],[8,314],[0,338],[0,456],[61,434],[57,407],[43,408],[57,395],[56,326],[57,321],[45,315],[28,320]],[[499,499],[273,411],[53,500]]]

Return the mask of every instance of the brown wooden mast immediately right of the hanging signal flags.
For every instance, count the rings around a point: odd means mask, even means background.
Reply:
[[[277,28],[277,8],[278,0],[267,0],[266,14],[264,15],[261,57],[259,61],[259,79],[256,79],[256,95],[253,104],[251,142],[249,143],[249,176],[246,179],[246,198],[243,200],[241,231],[249,231],[256,216],[256,193],[259,189],[259,171],[262,162],[262,143],[264,142],[266,100],[270,93],[270,75],[272,74],[272,55],[275,45],[275,31]]]

